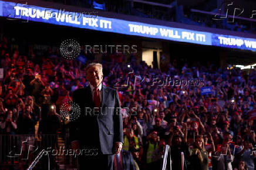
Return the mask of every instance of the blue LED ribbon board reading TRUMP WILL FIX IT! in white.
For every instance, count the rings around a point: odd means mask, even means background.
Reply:
[[[147,38],[256,50],[256,39],[124,21],[122,19],[106,18],[102,16],[86,16],[84,13],[16,4],[14,2],[0,1],[0,16],[9,19],[22,19],[25,22],[44,22],[54,25],[65,25]]]

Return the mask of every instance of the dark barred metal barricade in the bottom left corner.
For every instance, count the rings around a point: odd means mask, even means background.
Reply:
[[[43,149],[58,149],[57,135],[0,135],[0,169],[26,169]]]

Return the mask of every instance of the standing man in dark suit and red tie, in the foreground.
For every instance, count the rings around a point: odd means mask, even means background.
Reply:
[[[112,169],[123,145],[123,121],[117,91],[102,84],[102,64],[86,67],[89,86],[73,92],[81,114],[70,122],[70,141],[79,150],[80,169]]]

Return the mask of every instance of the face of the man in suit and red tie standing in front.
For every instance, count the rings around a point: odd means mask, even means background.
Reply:
[[[102,83],[103,73],[100,66],[91,66],[86,70],[86,79],[90,81],[92,86],[97,87]]]

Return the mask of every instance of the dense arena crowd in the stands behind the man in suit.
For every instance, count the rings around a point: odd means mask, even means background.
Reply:
[[[21,54],[6,38],[0,50],[0,134],[60,133],[66,139],[69,123],[60,117],[60,107],[89,84],[85,67],[95,56],[83,54],[85,64],[55,57],[50,50],[39,58],[32,49]],[[184,169],[255,169],[254,70],[200,62],[178,67],[173,60],[163,72],[137,63],[135,54],[126,62],[123,55],[105,55],[100,63],[103,84],[119,93],[123,151],[133,157],[130,169],[160,169],[165,145],[170,145],[175,170],[183,167],[181,152]],[[162,84],[169,78],[181,84]],[[210,91],[203,93],[202,87]]]

